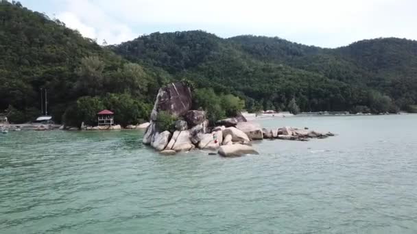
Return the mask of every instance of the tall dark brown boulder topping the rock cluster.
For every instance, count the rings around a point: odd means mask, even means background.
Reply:
[[[173,116],[180,117],[191,108],[191,90],[182,82],[170,83],[160,88],[156,96],[156,112],[169,112]]]

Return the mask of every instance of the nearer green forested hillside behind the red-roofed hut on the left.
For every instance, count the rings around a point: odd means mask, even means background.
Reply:
[[[19,2],[0,0],[0,116],[25,122],[40,116],[40,89],[48,90],[48,114],[69,124],[95,120],[112,109],[117,122],[148,118],[165,71],[144,68],[100,47]]]

